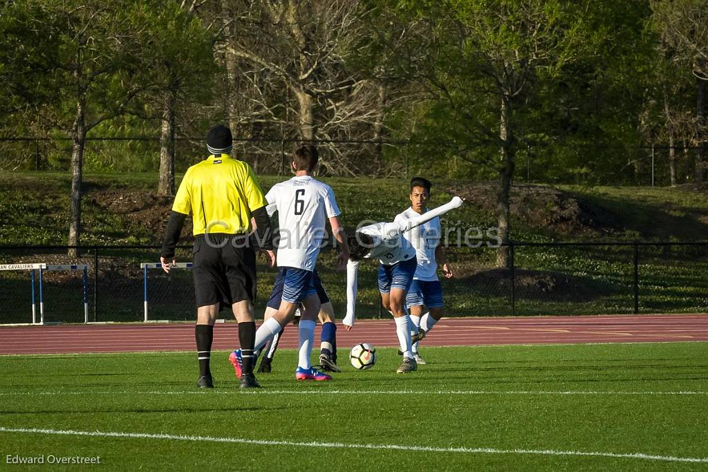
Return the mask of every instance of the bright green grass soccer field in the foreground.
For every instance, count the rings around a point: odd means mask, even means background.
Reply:
[[[226,352],[212,355],[213,391],[194,386],[191,352],[0,357],[1,463],[51,454],[99,456],[101,470],[121,471],[708,468],[706,343],[423,354],[429,364],[406,376],[389,349],[370,371],[315,384],[293,379],[295,351],[283,350],[258,391],[239,391]]]

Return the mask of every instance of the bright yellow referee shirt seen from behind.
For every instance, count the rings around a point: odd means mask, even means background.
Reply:
[[[251,212],[267,204],[251,166],[221,154],[187,169],[172,210],[192,214],[194,236],[239,234],[251,231]]]

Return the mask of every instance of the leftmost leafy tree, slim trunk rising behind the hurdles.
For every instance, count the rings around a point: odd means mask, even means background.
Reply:
[[[145,6],[118,0],[25,0],[17,8],[41,13],[25,18],[25,26],[41,30],[55,42],[50,59],[58,103],[54,125],[72,140],[72,189],[69,198],[69,246],[81,236],[81,192],[86,135],[93,127],[123,113],[142,90],[135,42]],[[69,251],[76,255],[76,250]]]

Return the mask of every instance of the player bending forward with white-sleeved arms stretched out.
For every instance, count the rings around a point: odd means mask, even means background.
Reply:
[[[399,338],[404,360],[396,370],[399,374],[413,372],[418,368],[413,357],[410,317],[404,303],[416,272],[416,249],[403,234],[421,224],[439,217],[462,205],[462,199],[453,197],[449,203],[411,219],[392,223],[376,223],[364,226],[348,238],[350,260],[347,264],[347,314],[342,323],[350,329],[354,325],[357,295],[357,273],[362,259],[379,260],[379,292],[382,303],[394,316],[396,335]],[[416,336],[417,338],[417,336]]]

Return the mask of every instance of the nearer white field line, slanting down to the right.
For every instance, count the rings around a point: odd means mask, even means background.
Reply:
[[[274,441],[268,439],[244,439],[240,437],[212,437],[212,436],[186,436],[182,434],[148,434],[142,432],[109,432],[109,431],[73,431],[73,430],[45,430],[39,428],[11,428],[1,427],[0,432],[19,432],[37,434],[57,434],[64,436],[93,436],[93,437],[127,437],[131,439],[171,439],[174,441],[192,442],[227,442],[234,444],[258,444],[263,446],[295,446],[295,447],[329,447],[333,449],[384,449],[396,451],[415,452],[459,452],[467,454],[539,454],[546,456],[596,456],[612,457],[617,459],[646,459],[649,461],[666,462],[698,462],[708,463],[708,459],[697,457],[655,456],[651,454],[622,454],[615,452],[585,452],[585,451],[556,451],[554,449],[493,449],[489,447],[430,447],[408,446],[401,444],[353,444],[345,442],[297,442]]]

